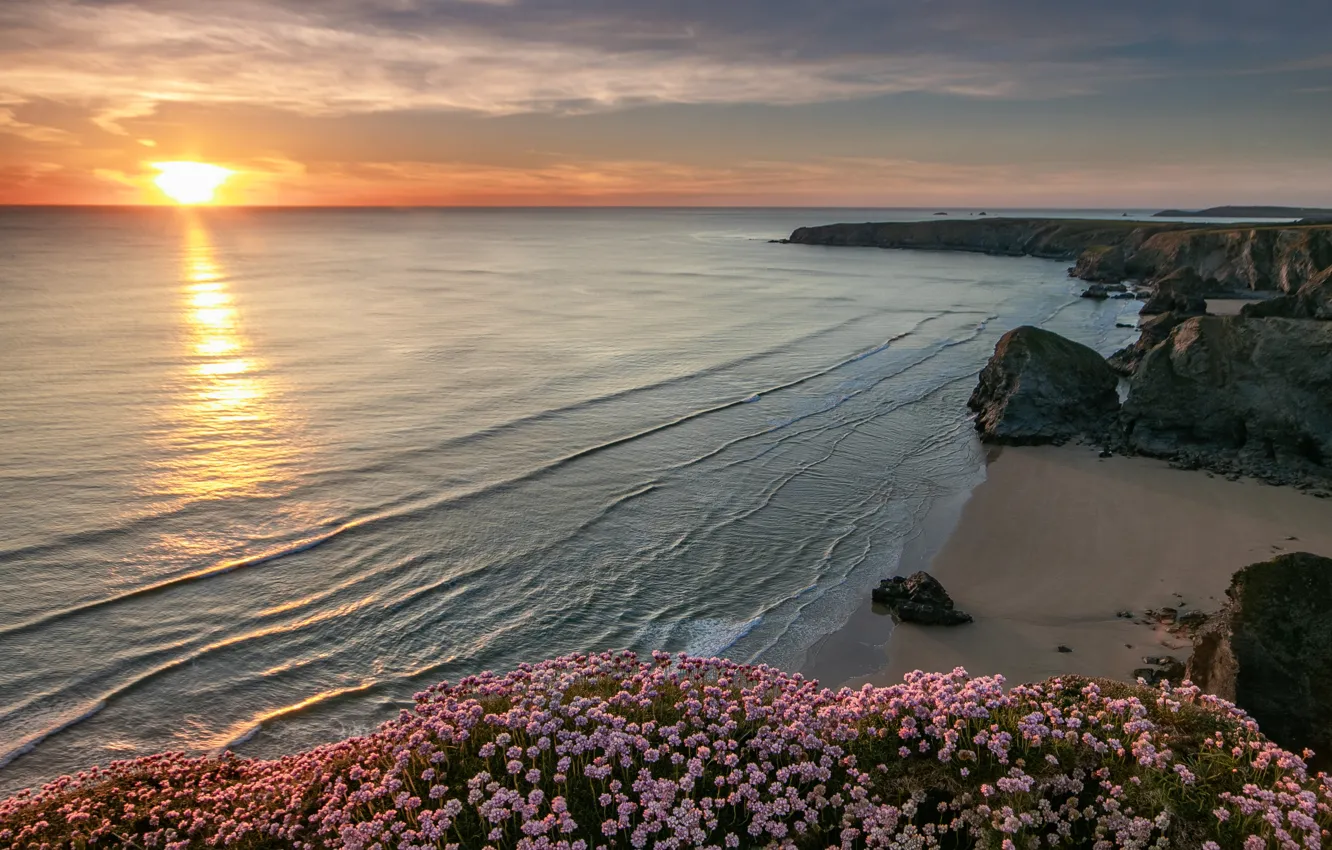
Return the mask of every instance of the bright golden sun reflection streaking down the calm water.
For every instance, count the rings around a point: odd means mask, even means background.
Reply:
[[[185,498],[277,496],[293,461],[288,422],[268,366],[241,325],[208,230],[190,220],[181,286],[186,373],[159,486]]]

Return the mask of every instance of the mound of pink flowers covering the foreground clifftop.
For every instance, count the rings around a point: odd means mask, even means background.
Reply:
[[[277,761],[164,754],[0,803],[0,846],[1320,847],[1332,781],[1196,687],[838,691],[766,666],[573,655],[417,694]]]

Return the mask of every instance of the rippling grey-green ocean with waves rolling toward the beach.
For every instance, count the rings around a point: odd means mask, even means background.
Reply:
[[[0,793],[555,654],[799,669],[983,478],[1004,330],[1134,336],[1066,262],[769,241],[931,212],[0,209]]]

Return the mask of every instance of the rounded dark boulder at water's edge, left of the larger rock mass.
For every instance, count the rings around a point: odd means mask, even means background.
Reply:
[[[999,338],[967,406],[990,442],[1063,442],[1110,426],[1118,384],[1095,350],[1026,325]]]

